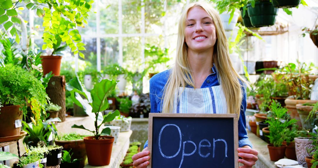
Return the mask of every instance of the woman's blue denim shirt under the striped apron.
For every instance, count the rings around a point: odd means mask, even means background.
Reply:
[[[203,82],[201,88],[208,88],[212,86],[220,85],[218,82],[217,69],[215,66],[212,67],[213,73],[210,74]],[[159,74],[154,75],[150,79],[150,104],[151,104],[151,113],[160,113],[161,112],[161,101],[162,94],[164,91],[164,86],[168,81],[170,70],[163,71]],[[187,88],[193,88],[191,86],[186,86]],[[246,110],[246,92],[245,88],[243,89],[243,99],[240,110],[240,117],[238,121],[238,130],[239,130],[239,147],[248,145],[252,147],[252,143],[248,140],[246,132],[246,121],[245,121],[245,110]],[[148,146],[148,140],[146,141],[144,148]]]

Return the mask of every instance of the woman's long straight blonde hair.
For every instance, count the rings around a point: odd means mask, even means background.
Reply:
[[[217,75],[219,83],[222,86],[223,92],[225,94],[228,110],[227,113],[239,115],[243,96],[243,90],[241,88],[243,85],[240,84],[239,80],[241,80],[247,86],[248,84],[232,66],[229,57],[227,39],[221,19],[218,15],[218,11],[211,7],[210,4],[205,2],[191,3],[181,15],[178,28],[176,63],[172,68],[168,81],[164,87],[164,92],[162,95],[163,101],[161,104],[162,112],[172,113],[174,108],[176,108],[173,106],[175,96],[177,96],[176,101],[179,101],[179,95],[182,93],[179,93],[179,87],[182,87],[183,90],[187,85],[195,88],[194,81],[191,80],[194,78],[192,77],[192,71],[188,62],[188,46],[185,43],[187,13],[194,7],[200,7],[205,10],[214,22],[217,40],[214,45],[212,61],[218,70]],[[175,93],[177,94],[175,95]]]

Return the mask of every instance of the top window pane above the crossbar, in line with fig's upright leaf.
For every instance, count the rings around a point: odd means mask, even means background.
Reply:
[[[118,0],[101,0],[100,8],[100,33],[117,34],[118,30]]]

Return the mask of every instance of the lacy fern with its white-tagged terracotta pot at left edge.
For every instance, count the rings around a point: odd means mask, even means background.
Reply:
[[[41,82],[21,67],[0,67],[0,79],[0,137],[16,136],[21,131],[22,115],[27,113],[26,99],[34,118],[39,119],[48,96]]]

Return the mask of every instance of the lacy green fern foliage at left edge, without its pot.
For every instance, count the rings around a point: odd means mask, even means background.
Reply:
[[[13,65],[0,67],[0,79],[1,104],[3,106],[22,105],[20,110],[25,116],[27,113],[25,99],[28,99],[35,119],[39,120],[41,110],[45,110],[46,101],[49,99],[40,81],[21,67]]]

